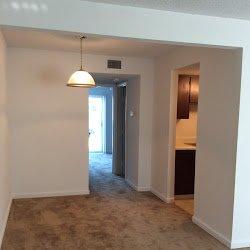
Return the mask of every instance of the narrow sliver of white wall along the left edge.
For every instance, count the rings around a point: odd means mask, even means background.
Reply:
[[[6,44],[0,30],[0,248],[11,203],[8,164],[8,117],[6,114]]]

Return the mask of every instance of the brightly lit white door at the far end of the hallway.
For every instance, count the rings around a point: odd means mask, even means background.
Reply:
[[[89,96],[89,151],[104,152],[104,96]]]

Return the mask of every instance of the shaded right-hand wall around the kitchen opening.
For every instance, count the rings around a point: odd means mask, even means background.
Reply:
[[[234,203],[241,52],[183,48],[156,61],[154,93],[152,187],[173,197],[175,135],[171,116],[176,90],[173,70],[200,63],[198,138],[195,181],[195,222],[230,245]],[[169,153],[167,153],[169,152]],[[222,212],[223,211],[223,212]]]

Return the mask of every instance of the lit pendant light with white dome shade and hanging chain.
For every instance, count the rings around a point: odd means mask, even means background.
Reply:
[[[83,87],[83,88],[92,88],[95,87],[95,81],[89,72],[83,70],[82,66],[82,42],[86,37],[80,37],[80,49],[81,49],[81,67],[80,70],[76,71],[71,75],[67,86],[69,87]]]

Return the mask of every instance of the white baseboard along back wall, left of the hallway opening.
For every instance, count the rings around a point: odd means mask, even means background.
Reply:
[[[14,199],[25,199],[25,198],[42,198],[42,197],[57,197],[57,196],[71,196],[71,195],[87,195],[87,190],[76,190],[76,191],[58,191],[58,192],[41,192],[41,193],[14,193]]]

